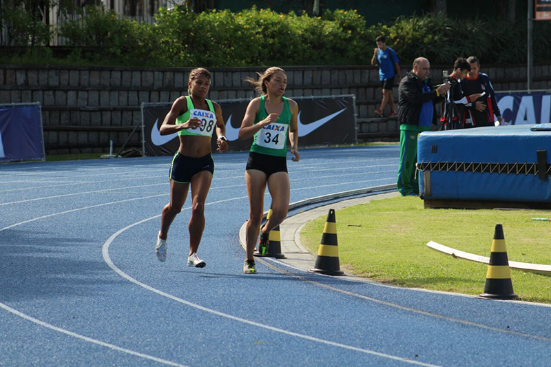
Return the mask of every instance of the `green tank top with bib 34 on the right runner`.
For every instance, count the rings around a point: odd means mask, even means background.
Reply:
[[[287,156],[287,138],[289,138],[289,124],[291,123],[292,115],[289,101],[283,96],[281,98],[283,98],[284,105],[279,120],[262,127],[262,129],[254,134],[251,151],[269,156]],[[261,96],[260,106],[258,107],[253,125],[267,117],[268,113],[264,105],[264,96]]]

